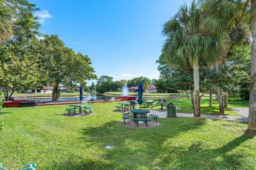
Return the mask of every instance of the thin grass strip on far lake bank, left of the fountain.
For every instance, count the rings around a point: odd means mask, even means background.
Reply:
[[[26,97],[52,97],[52,94],[13,94],[14,98],[26,98]],[[79,96],[79,92],[63,92],[60,94],[60,97],[72,97]],[[83,92],[83,96],[89,96],[87,92]]]

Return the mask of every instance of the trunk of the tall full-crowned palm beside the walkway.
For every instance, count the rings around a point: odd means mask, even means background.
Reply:
[[[198,59],[193,60],[193,73],[194,73],[194,117],[201,117]]]

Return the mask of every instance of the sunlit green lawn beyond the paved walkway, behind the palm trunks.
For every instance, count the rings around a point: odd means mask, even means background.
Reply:
[[[150,98],[146,98],[150,99]],[[145,100],[146,100],[145,99]],[[154,98],[151,98],[154,100]],[[155,101],[157,101],[155,99]],[[243,100],[240,98],[229,98],[229,105],[228,108],[225,109],[225,115],[229,116],[241,116],[238,113],[231,111],[230,108],[244,108],[244,107],[249,107],[249,101]],[[173,103],[177,109],[177,113],[193,113],[193,107],[191,104],[191,101],[187,98],[183,99],[171,99],[171,98],[166,98],[166,103],[163,106],[166,106],[168,103]],[[160,110],[161,105],[158,105],[156,107],[149,107],[150,109],[153,110]],[[164,107],[164,110],[166,108]],[[202,114],[210,114],[210,115],[218,115],[219,114],[219,103],[217,100],[213,99],[212,100],[212,107],[209,107],[209,98],[202,98],[201,99],[201,113]]]

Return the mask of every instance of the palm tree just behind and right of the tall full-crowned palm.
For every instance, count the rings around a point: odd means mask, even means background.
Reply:
[[[215,61],[215,71],[219,72],[219,65],[226,65],[228,51],[235,45],[244,43],[249,35],[248,15],[245,3],[241,1],[204,1],[204,23],[205,29],[215,33],[222,40],[221,56],[219,61]],[[226,10],[229,8],[229,10]],[[226,13],[223,13],[226,11]],[[224,114],[224,108],[228,105],[228,92],[217,86],[217,96],[219,101],[219,113]]]

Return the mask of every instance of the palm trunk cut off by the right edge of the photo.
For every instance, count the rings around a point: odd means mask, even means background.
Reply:
[[[247,133],[256,134],[256,1],[251,1],[251,83],[250,83],[250,104]]]

